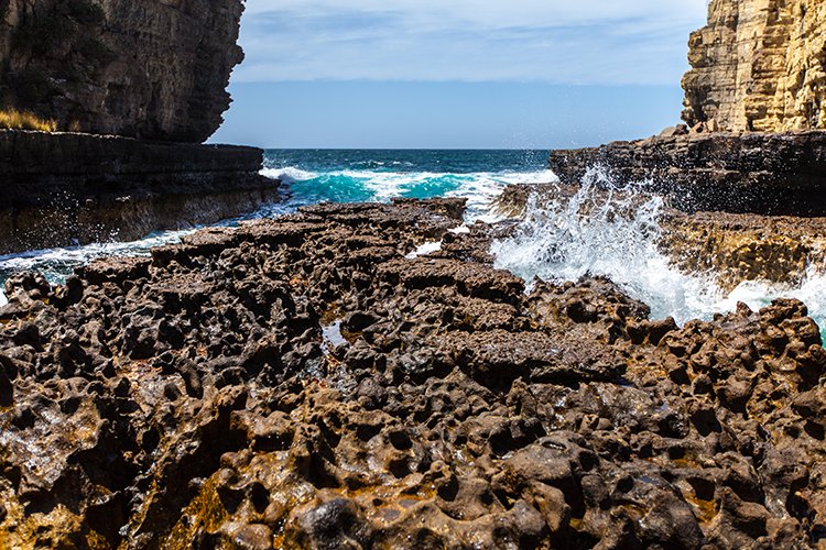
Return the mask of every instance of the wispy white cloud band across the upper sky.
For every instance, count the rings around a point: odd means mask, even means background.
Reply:
[[[236,81],[670,84],[704,0],[248,0]]]

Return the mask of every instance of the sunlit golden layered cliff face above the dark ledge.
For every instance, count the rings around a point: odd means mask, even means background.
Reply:
[[[826,128],[826,2],[713,0],[688,58],[683,119],[689,124]]]

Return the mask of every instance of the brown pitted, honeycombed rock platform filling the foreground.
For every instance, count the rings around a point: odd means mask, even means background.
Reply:
[[[823,544],[803,304],[678,328],[607,279],[525,294],[463,210],[322,205],[11,278],[0,546]]]

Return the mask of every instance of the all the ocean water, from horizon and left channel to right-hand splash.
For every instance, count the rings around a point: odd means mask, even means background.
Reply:
[[[491,204],[507,185],[556,180],[545,169],[546,162],[546,151],[272,150],[265,154],[262,174],[284,182],[282,200],[220,224],[278,217],[322,201],[389,201],[393,197],[465,197],[467,223],[492,222],[500,218]],[[561,197],[542,208],[529,205],[514,235],[493,244],[497,266],[523,277],[529,286],[534,277],[575,280],[586,274],[605,275],[645,301],[653,318],[672,316],[680,323],[732,310],[738,301],[758,309],[775,297],[796,297],[808,305],[820,327],[826,327],[823,274],[812,271],[795,287],[749,282],[724,293],[714,283],[714,274],[681,273],[657,251],[662,199],[641,197],[632,188],[596,194],[597,184],[616,187],[608,175],[595,169],[575,196]],[[588,216],[580,213],[584,205]],[[21,270],[36,270],[52,283],[61,283],[93,258],[148,255],[152,246],[177,242],[195,229],[155,232],[127,243],[0,256],[0,283]],[[0,293],[0,304],[3,301]]]

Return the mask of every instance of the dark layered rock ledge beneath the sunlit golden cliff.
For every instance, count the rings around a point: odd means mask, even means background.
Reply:
[[[681,210],[826,216],[826,132],[678,135],[551,152],[563,183],[578,184],[594,167],[618,184],[644,183]]]

